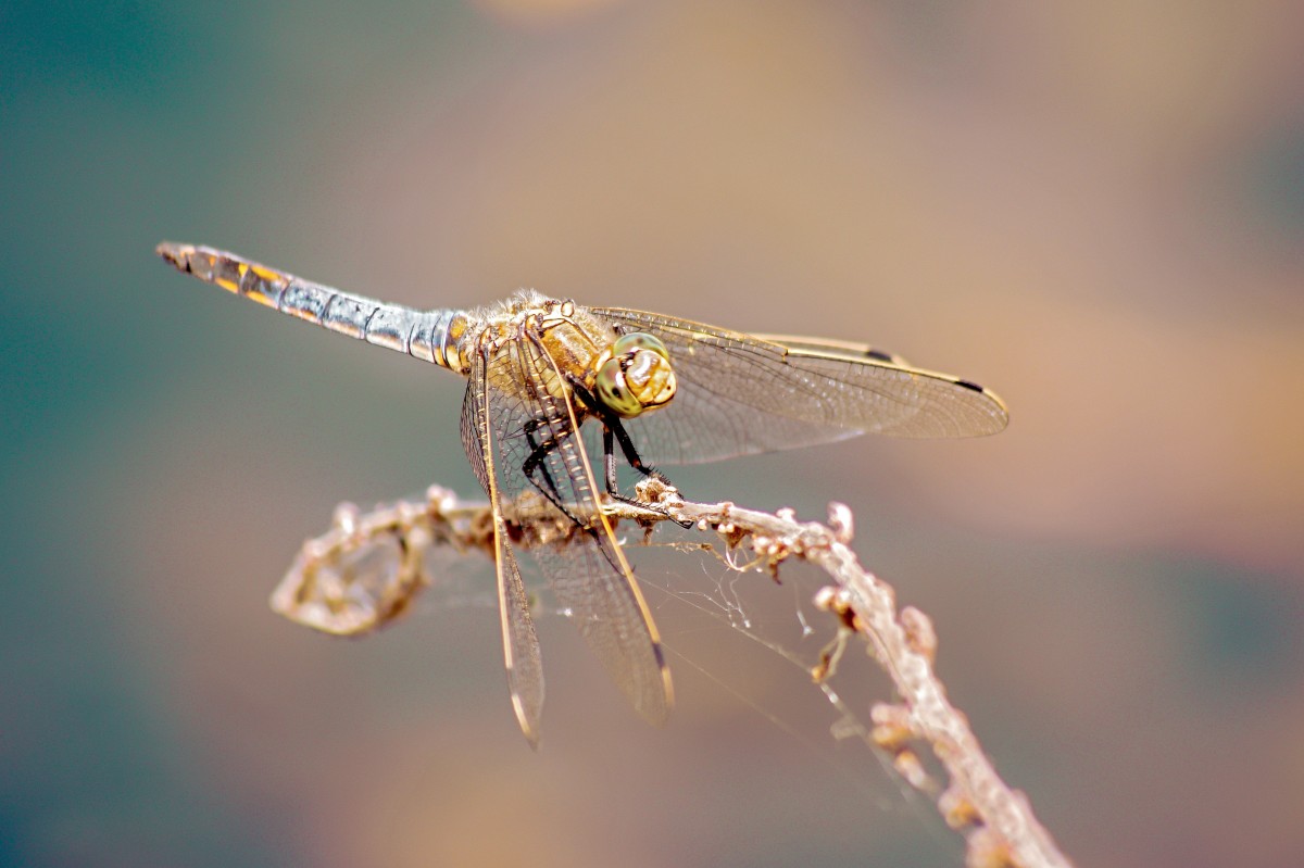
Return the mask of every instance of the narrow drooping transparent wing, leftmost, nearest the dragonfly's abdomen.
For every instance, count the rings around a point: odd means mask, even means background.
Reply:
[[[507,541],[502,504],[493,467],[493,433],[486,424],[485,365],[476,360],[471,382],[462,401],[462,446],[467,451],[480,485],[493,508],[494,564],[498,571],[498,615],[502,619],[503,659],[507,665],[507,689],[516,722],[531,747],[539,745],[539,727],[544,714],[544,663],[539,649],[535,622],[529,616],[529,598],[520,579],[520,567]]]

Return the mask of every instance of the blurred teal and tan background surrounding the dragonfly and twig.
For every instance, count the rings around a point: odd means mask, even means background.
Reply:
[[[674,478],[850,504],[1078,864],[1304,864],[1296,4],[0,9],[0,864],[956,864],[793,670],[665,597],[670,726],[542,618],[537,755],[490,607],[360,641],[273,615],[338,500],[476,495],[463,384],[183,278],[162,239],[994,387],[996,438]]]

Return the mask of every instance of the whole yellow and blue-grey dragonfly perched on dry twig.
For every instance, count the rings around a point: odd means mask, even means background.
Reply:
[[[493,514],[497,596],[511,705],[537,745],[544,670],[505,504],[532,499],[571,527],[532,554],[612,680],[648,722],[673,704],[661,639],[604,510],[623,460],[659,465],[827,443],[863,433],[975,437],[1005,427],[1005,405],[958,377],[867,344],[743,334],[678,317],[584,306],[520,291],[469,310],[377,301],[233,253],[164,241],[184,274],[467,378],[460,434]],[[595,431],[585,447],[583,431]],[[601,438],[601,474],[589,452]],[[596,457],[596,455],[595,455]]]

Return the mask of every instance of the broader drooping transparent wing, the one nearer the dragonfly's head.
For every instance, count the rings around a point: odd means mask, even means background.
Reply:
[[[494,356],[486,381],[502,493],[540,502],[572,529],[566,540],[536,545],[531,553],[634,709],[651,723],[664,723],[670,673],[643,594],[599,507],[582,438],[572,434],[583,420],[567,390],[557,388],[561,371],[526,340]],[[527,476],[527,461],[545,443],[546,456]]]

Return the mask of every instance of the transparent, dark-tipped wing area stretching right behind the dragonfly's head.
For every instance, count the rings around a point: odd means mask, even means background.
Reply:
[[[622,308],[592,313],[670,351],[674,400],[629,424],[643,457],[691,464],[825,443],[863,433],[975,437],[1005,427],[977,383],[911,368],[867,344],[743,335]]]

